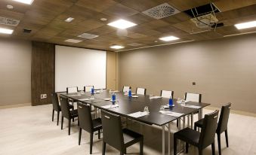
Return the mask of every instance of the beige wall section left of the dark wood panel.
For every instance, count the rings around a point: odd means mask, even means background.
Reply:
[[[0,38],[0,106],[31,103],[31,42]]]

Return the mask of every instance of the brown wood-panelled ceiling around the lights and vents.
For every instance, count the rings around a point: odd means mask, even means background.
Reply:
[[[184,12],[161,20],[142,13],[165,2],[180,11],[214,2],[221,9],[216,16],[224,26],[215,31],[211,28],[199,29]],[[8,4],[14,5],[14,9],[6,8]],[[221,38],[224,35],[256,31],[254,28],[238,30],[233,26],[236,23],[256,20],[256,0],[34,0],[32,5],[2,0],[0,17],[20,20],[16,27],[0,25],[2,28],[14,29],[12,38],[101,50],[113,50],[109,46],[122,44],[125,49],[129,49],[134,48],[129,45],[132,43],[143,44],[138,47],[168,44],[159,41],[160,37],[166,35],[177,36],[180,38],[178,41],[187,41],[208,40]],[[66,23],[64,20],[68,17],[73,17],[74,20]],[[101,18],[106,18],[106,21],[100,20]],[[136,23],[137,26],[126,30],[107,26],[107,23],[120,18]],[[24,33],[23,29],[31,29],[32,32]],[[77,37],[84,32],[99,36],[94,39]],[[0,37],[10,36],[0,35]],[[65,42],[69,38],[80,39],[82,42],[78,44]]]

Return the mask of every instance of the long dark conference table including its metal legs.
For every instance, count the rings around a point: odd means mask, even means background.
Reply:
[[[134,97],[128,97],[125,93],[118,91],[102,90],[95,91],[94,98],[91,98],[91,93],[61,93],[61,96],[65,96],[76,102],[82,102],[88,105],[93,105],[95,114],[97,115],[97,109],[109,111],[113,114],[118,114],[121,117],[126,117],[130,120],[136,120],[140,123],[147,125],[156,125],[162,127],[162,155],[165,154],[165,126],[168,128],[168,155],[171,153],[171,122],[177,120],[180,130],[180,120],[183,118],[183,127],[185,127],[185,116],[193,114],[199,111],[199,117],[202,118],[202,108],[210,105],[202,102],[187,102],[186,105],[182,105],[177,102],[177,99],[173,99],[173,107],[165,108],[164,112],[159,112],[162,105],[168,105],[168,98],[155,97],[150,98],[148,95],[133,95]],[[116,102],[111,102],[111,93],[116,93]],[[154,98],[154,97],[153,97]],[[141,117],[135,117],[134,113],[141,111],[143,113],[144,108],[148,107],[149,113]]]

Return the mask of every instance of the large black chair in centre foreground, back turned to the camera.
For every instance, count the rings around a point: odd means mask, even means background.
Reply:
[[[140,155],[143,154],[143,135],[133,132],[129,129],[122,129],[121,117],[116,114],[110,114],[101,111],[103,126],[103,148],[102,154],[105,154],[106,144],[115,147],[120,151],[120,155],[126,153],[126,148],[140,141]]]

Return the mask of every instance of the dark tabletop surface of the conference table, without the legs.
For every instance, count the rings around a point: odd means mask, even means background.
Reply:
[[[166,123],[177,120],[177,118],[179,118],[179,117],[172,117],[166,114],[159,113],[159,109],[161,105],[168,105],[167,98],[150,99],[150,96],[147,96],[147,95],[146,96],[136,95],[139,97],[131,98],[131,97],[125,96],[124,93],[116,93],[116,100],[119,102],[119,107],[106,109],[106,108],[102,108],[102,106],[113,104],[110,101],[104,100],[107,98],[111,98],[111,94],[109,93],[109,90],[103,90],[103,92],[101,93],[94,94],[94,99],[89,101],[81,100],[81,99],[90,99],[91,93],[85,93],[82,95],[79,94],[79,96],[76,96],[77,93],[62,93],[61,95],[66,96],[69,99],[73,99],[78,102],[94,105],[94,107],[96,108],[104,109],[105,111],[109,111],[114,114],[119,114],[122,117],[128,117],[132,120],[137,120],[147,124],[155,124],[157,126],[162,126]],[[174,99],[173,102],[174,102],[174,107],[165,109],[165,111],[182,113],[184,115],[191,114],[194,111],[199,111],[199,109],[196,109],[196,108],[187,108],[187,107],[181,106],[179,103],[177,103],[177,99]],[[200,103],[187,102],[187,105],[197,105],[197,106],[200,106],[201,108],[204,108],[210,104],[202,103],[202,102]],[[138,117],[138,118],[128,116],[128,114],[132,114],[137,111],[143,111],[145,106],[148,106],[150,114],[143,117]],[[183,116],[180,116],[180,117],[183,117]]]

